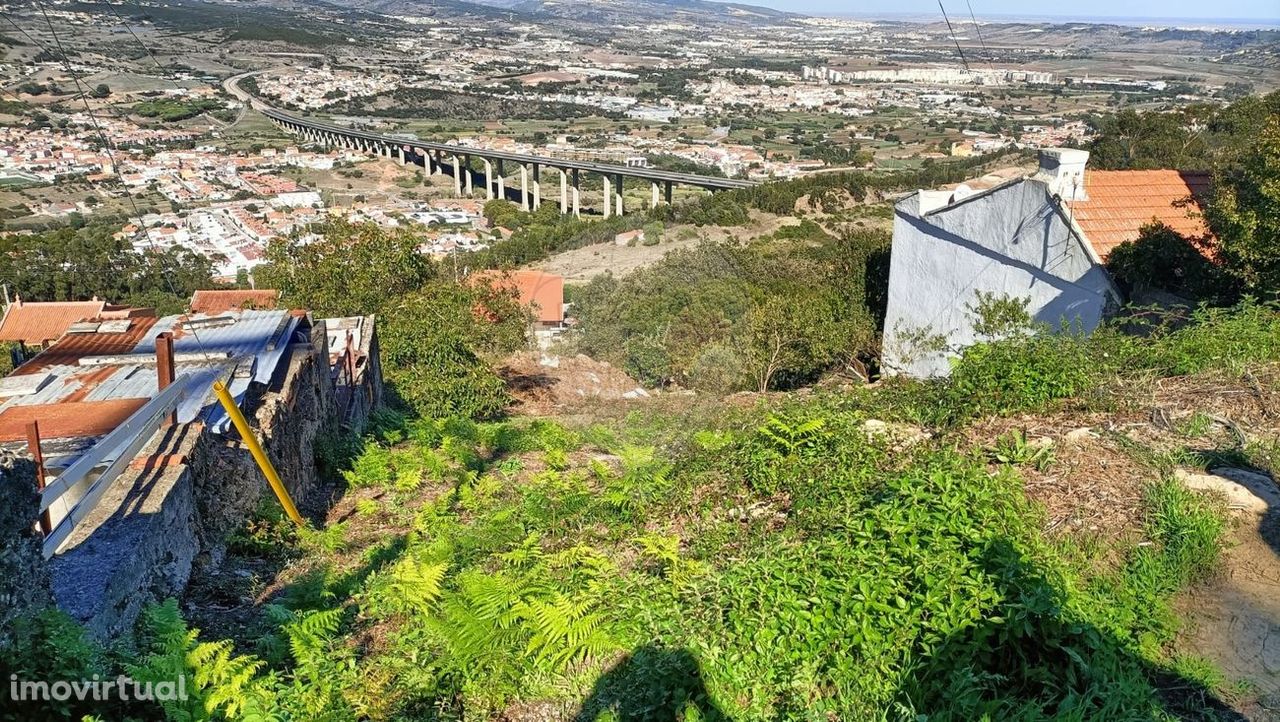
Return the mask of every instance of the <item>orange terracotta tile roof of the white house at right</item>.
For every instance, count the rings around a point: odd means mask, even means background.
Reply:
[[[1089,170],[1084,174],[1088,200],[1070,204],[1071,215],[1103,260],[1153,220],[1188,238],[1204,238],[1208,228],[1197,218],[1197,198],[1206,197],[1208,184],[1207,173]]]

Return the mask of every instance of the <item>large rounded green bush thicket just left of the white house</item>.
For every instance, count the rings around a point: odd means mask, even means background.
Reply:
[[[575,296],[581,346],[645,383],[716,392],[795,388],[841,370],[874,347],[867,289],[883,283],[867,277],[883,270],[869,259],[887,238],[823,237],[818,248],[704,243],[622,280],[598,277]]]

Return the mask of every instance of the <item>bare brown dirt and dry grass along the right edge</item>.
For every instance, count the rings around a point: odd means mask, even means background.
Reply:
[[[1225,702],[1244,718],[1280,722],[1280,486],[1260,469],[1248,470],[1252,493],[1221,476],[1248,467],[1242,445],[1280,444],[1280,366],[1115,393],[1124,402],[1105,413],[996,419],[965,435],[991,448],[1020,430],[1028,443],[1052,448],[1053,462],[1043,470],[1020,469],[1051,535],[1092,536],[1119,548],[1125,539],[1140,540],[1143,486],[1160,477],[1162,460],[1180,462],[1175,476],[1202,480],[1189,486],[1221,494],[1231,526],[1220,571],[1176,602],[1185,620],[1176,650],[1213,662],[1231,690]]]

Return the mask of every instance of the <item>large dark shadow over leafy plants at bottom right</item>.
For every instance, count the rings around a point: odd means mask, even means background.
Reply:
[[[1076,621],[1061,591],[1011,545],[984,572],[1004,602],[942,640],[899,694],[918,719],[1244,721],[1213,690],[1155,666],[1097,626]]]

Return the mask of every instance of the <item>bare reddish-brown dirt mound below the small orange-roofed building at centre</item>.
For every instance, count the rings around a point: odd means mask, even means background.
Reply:
[[[516,398],[516,413],[559,413],[599,401],[641,399],[650,393],[635,379],[590,356],[553,356],[538,352],[508,358],[498,375]]]

